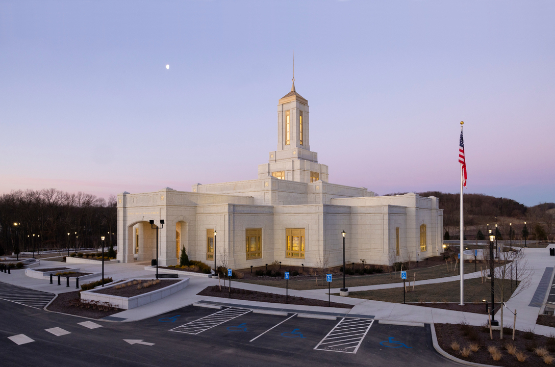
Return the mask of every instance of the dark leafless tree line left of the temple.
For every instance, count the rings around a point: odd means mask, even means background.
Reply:
[[[116,244],[114,195],[107,201],[90,193],[46,188],[0,196],[0,255],[32,248],[100,247],[100,236],[105,236],[105,246]]]

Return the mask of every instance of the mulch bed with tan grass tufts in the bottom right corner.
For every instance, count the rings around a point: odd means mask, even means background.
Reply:
[[[510,315],[508,319],[512,322]],[[539,366],[546,364],[544,363],[543,358],[534,353],[534,349],[545,348],[549,351],[549,354],[555,354],[555,338],[536,335],[532,332],[522,332],[520,330],[516,330],[514,340],[512,340],[512,329],[504,328],[503,340],[500,340],[499,330],[493,330],[493,340],[491,340],[490,330],[484,326],[478,327],[461,324],[435,324],[435,328],[437,341],[441,349],[456,358],[473,363],[506,367]],[[460,351],[455,351],[451,348],[451,343],[453,341],[456,341],[460,345],[460,349],[471,343],[481,345],[481,348],[465,358],[461,355]],[[519,362],[515,355],[508,354],[507,349],[505,348],[505,345],[507,344],[516,346],[517,351],[522,351],[526,354],[526,361]],[[491,354],[488,352],[488,346],[490,345],[496,346],[501,351],[501,360],[493,360]]]

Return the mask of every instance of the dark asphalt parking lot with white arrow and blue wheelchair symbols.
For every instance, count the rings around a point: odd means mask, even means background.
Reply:
[[[0,300],[7,365],[446,366],[425,327],[190,305],[139,322],[86,320]],[[71,362],[69,362],[71,361]]]

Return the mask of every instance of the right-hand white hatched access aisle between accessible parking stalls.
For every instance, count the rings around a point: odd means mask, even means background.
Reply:
[[[372,323],[374,323],[372,319],[342,318],[314,349],[355,354]]]

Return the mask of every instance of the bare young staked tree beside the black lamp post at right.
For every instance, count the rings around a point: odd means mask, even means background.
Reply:
[[[534,274],[531,267],[528,266],[528,261],[524,257],[524,252],[521,250],[507,251],[499,253],[499,266],[493,269],[493,276],[495,277],[495,288],[501,299],[501,339],[503,339],[503,306],[504,302],[513,298],[514,296],[523,292],[531,284],[532,275]],[[518,270],[518,272],[516,271]],[[507,294],[509,282],[513,281],[514,276],[518,286],[513,293]]]

